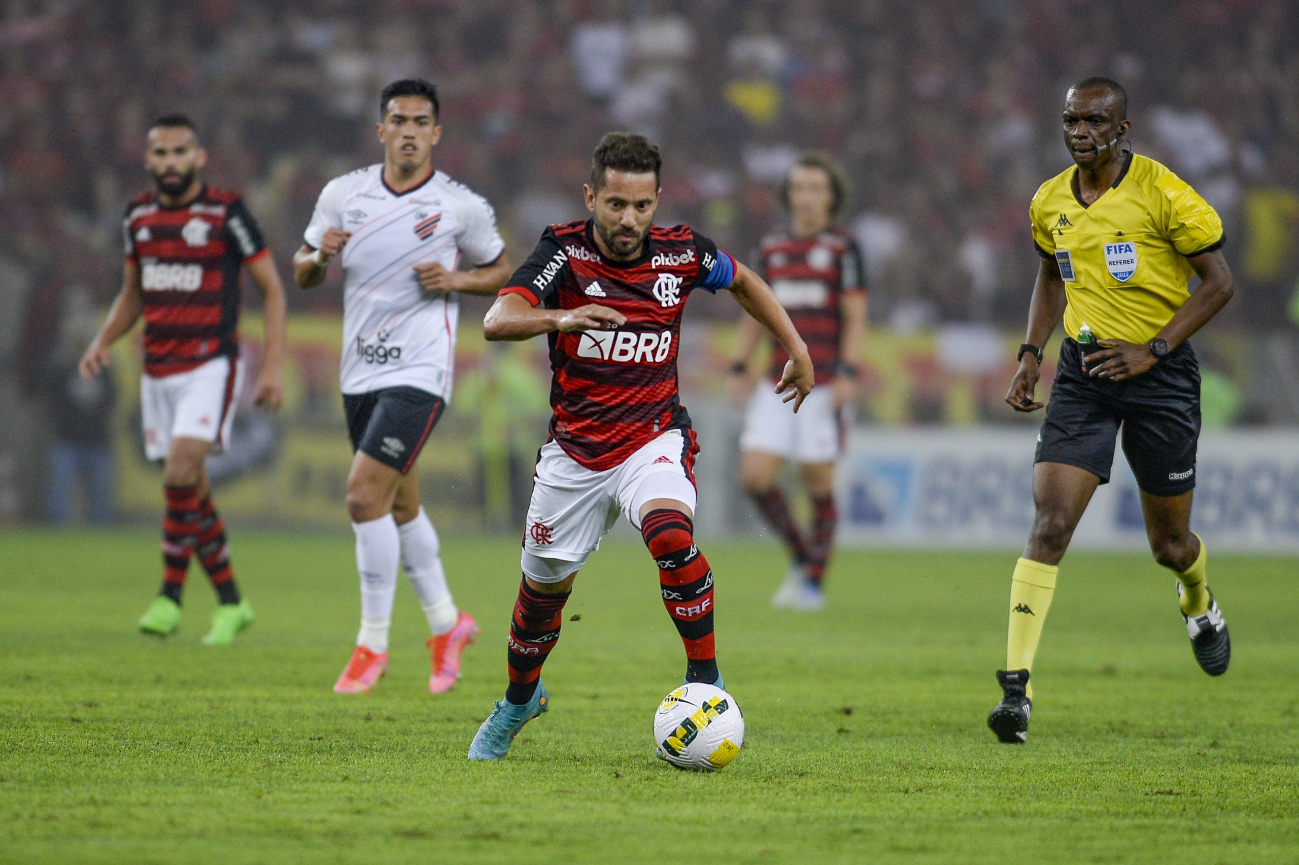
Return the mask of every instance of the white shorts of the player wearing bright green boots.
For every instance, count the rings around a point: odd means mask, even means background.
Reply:
[[[142,375],[144,456],[165,460],[171,439],[212,442],[214,451],[223,451],[235,421],[243,373],[243,361],[214,357],[188,373]]]

